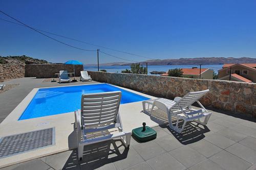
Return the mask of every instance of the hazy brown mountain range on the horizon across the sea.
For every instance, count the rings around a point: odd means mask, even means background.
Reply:
[[[224,63],[256,63],[256,58],[233,58],[233,57],[203,57],[203,58],[180,58],[180,59],[164,59],[164,60],[147,60],[139,62],[142,65],[211,65],[211,64],[224,64]],[[100,65],[114,66],[114,65],[131,65],[127,62],[114,62],[103,63]],[[95,66],[96,64],[90,64],[88,66]]]

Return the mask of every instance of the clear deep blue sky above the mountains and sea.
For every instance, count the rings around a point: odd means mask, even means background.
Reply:
[[[256,57],[256,1],[4,1],[0,10],[27,25],[82,41],[156,59]],[[0,18],[12,20],[3,14]],[[98,47],[54,37],[71,45]],[[96,52],[59,44],[0,20],[0,55],[50,62],[96,63]],[[145,58],[116,53],[118,57]],[[100,62],[122,60],[100,54]]]

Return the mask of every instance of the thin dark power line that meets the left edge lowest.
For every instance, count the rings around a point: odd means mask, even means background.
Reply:
[[[0,18],[0,19],[4,20],[6,22],[10,22],[10,23],[19,25],[19,26],[24,26],[24,25],[21,25],[19,23],[12,22],[12,21],[9,21],[9,20],[3,19],[3,18]],[[26,27],[26,26],[24,26],[24,27]],[[145,57],[145,56],[141,56],[141,55],[137,55],[137,54],[133,54],[133,53],[128,53],[128,52],[124,52],[124,51],[120,51],[120,50],[115,50],[113,48],[109,48],[109,47],[105,47],[105,46],[101,46],[101,45],[96,45],[96,44],[93,44],[93,43],[90,43],[90,42],[85,42],[85,41],[77,40],[75,38],[66,37],[66,36],[55,34],[55,33],[51,33],[51,32],[48,32],[48,31],[44,31],[44,30],[40,30],[40,29],[35,29],[35,30],[40,31],[40,32],[45,32],[45,33],[48,33],[48,34],[52,34],[52,35],[55,35],[55,36],[59,36],[59,37],[62,37],[62,38],[70,39],[70,40],[73,40],[73,41],[77,41],[77,42],[81,42],[81,43],[85,43],[85,44],[89,44],[89,45],[98,46],[98,47],[105,48],[105,49],[112,50],[112,51],[116,51],[116,52],[119,52],[119,53],[124,53],[124,54],[129,54],[129,55],[133,55],[133,56],[138,56],[138,57],[143,57],[143,58],[155,60],[154,58]]]

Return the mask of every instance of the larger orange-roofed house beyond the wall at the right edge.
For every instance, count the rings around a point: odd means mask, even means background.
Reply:
[[[218,70],[219,80],[256,82],[256,63],[228,63]]]

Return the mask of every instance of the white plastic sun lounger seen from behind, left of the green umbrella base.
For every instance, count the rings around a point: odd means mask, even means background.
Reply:
[[[123,132],[118,111],[120,100],[121,91],[82,94],[81,110],[75,111],[79,159],[84,145],[121,138],[130,146],[131,133]]]

